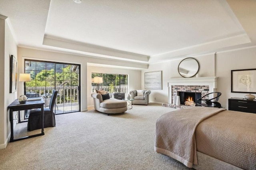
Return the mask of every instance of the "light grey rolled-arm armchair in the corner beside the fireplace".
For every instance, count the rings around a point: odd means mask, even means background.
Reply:
[[[132,90],[130,91],[132,105],[148,105],[150,90]]]

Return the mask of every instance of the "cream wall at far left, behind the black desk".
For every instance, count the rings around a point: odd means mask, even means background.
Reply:
[[[7,19],[8,20],[8,19]],[[0,149],[6,148],[10,136],[8,105],[17,99],[17,92],[9,93],[10,55],[17,57],[17,45],[6,20],[0,18]],[[15,113],[14,113],[15,114]]]

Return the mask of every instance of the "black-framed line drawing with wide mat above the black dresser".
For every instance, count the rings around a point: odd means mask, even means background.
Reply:
[[[231,93],[256,93],[256,69],[231,70]]]

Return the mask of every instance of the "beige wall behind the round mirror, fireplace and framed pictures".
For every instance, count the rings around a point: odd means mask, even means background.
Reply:
[[[218,77],[216,91],[222,93],[219,102],[223,107],[228,109],[228,99],[230,97],[244,97],[244,95],[246,95],[246,93],[231,93],[231,70],[256,69],[256,47],[236,51],[217,52],[215,55],[212,53],[194,56],[194,58],[199,62],[200,69],[198,73],[201,77]],[[178,73],[178,64],[181,60],[182,59],[174,59],[168,62],[150,64],[147,70],[142,70],[142,88],[144,88],[145,72],[163,71],[163,89],[151,90],[150,102],[168,102],[167,81],[170,78],[181,77]]]

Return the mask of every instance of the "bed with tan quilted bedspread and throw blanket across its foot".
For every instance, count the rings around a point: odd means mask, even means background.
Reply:
[[[256,114],[211,107],[166,113],[156,121],[155,151],[197,170],[255,170]]]

